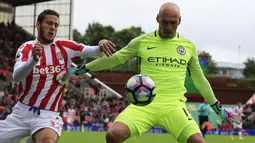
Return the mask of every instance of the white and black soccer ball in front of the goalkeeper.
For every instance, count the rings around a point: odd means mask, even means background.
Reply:
[[[130,103],[145,106],[156,96],[156,86],[153,80],[145,75],[134,75],[126,83],[126,95]]]

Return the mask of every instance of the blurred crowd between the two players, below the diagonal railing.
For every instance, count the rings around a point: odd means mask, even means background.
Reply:
[[[83,124],[86,130],[97,126],[103,131],[127,105],[127,100],[117,98],[92,79],[75,77],[65,91],[61,114],[67,130],[84,130],[79,128]]]

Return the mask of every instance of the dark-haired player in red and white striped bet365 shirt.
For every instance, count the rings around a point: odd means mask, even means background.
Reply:
[[[98,46],[88,46],[70,40],[56,39],[59,14],[44,10],[38,16],[35,40],[25,42],[16,54],[13,78],[19,82],[19,101],[11,115],[0,121],[0,143],[56,143],[63,121],[59,116],[65,84],[56,77],[69,73],[73,58],[111,56],[115,45],[101,40]]]

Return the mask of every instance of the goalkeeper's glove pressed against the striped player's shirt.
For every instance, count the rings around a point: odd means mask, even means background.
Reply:
[[[58,81],[60,86],[63,86],[67,83],[68,79],[72,76],[76,75],[83,75],[87,72],[85,65],[80,65],[78,67],[73,67],[73,68],[67,68],[66,70],[60,72],[56,80]]]

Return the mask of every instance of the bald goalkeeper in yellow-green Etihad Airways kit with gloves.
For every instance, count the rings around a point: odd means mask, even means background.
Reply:
[[[187,71],[199,92],[224,122],[240,123],[239,118],[225,111],[215,98],[199,65],[194,44],[176,32],[181,23],[179,7],[174,3],[163,4],[156,20],[158,30],[133,39],[110,57],[99,58],[74,71],[76,75],[102,71],[137,56],[141,59],[140,73],[152,78],[156,84],[155,99],[147,106],[129,105],[108,129],[106,142],[121,143],[129,137],[139,137],[153,126],[160,126],[178,142],[205,143],[185,104]]]

